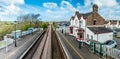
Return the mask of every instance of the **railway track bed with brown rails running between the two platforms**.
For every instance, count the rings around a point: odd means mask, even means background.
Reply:
[[[69,59],[52,25],[34,41],[20,59]]]

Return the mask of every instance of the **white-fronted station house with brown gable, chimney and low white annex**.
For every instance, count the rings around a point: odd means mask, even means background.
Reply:
[[[86,43],[89,39],[101,43],[112,40],[113,32],[104,26],[105,19],[98,13],[98,6],[94,4],[92,9],[92,12],[85,14],[75,12],[70,19],[69,34],[75,36],[78,41],[84,40]]]

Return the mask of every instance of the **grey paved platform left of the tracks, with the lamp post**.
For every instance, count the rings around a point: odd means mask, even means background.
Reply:
[[[36,36],[41,33],[35,32],[25,37],[19,38],[17,41],[17,47],[14,47],[14,43],[9,45],[7,48],[0,49],[0,59],[19,59],[20,55],[31,45],[35,40]]]

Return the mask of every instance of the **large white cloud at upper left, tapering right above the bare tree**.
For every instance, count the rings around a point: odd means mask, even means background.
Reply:
[[[19,15],[40,12],[40,8],[26,5],[24,0],[0,0],[0,3],[0,19],[3,21],[14,21]]]

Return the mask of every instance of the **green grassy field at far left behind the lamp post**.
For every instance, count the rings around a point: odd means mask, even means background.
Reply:
[[[37,27],[39,25],[36,24],[31,24],[32,27]],[[18,22],[16,24],[16,30],[22,30],[25,31],[28,28],[30,28],[30,23],[29,22]],[[6,34],[14,31],[14,24],[11,21],[1,21],[0,22],[0,40],[3,39],[3,36]]]

